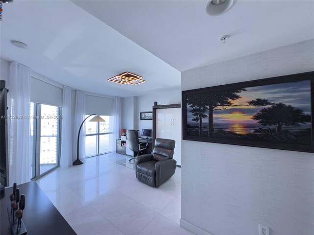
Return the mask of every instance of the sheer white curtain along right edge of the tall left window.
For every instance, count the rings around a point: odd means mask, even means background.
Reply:
[[[62,128],[61,128],[61,156],[60,167],[71,166],[72,161],[72,108],[71,108],[71,88],[63,87],[62,104]],[[75,138],[74,138],[75,139]]]

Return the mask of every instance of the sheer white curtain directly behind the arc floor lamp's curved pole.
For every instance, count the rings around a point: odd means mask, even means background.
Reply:
[[[73,136],[73,161],[77,159],[78,130],[85,119],[85,92],[76,91],[75,115],[74,115],[74,136]],[[79,136],[79,159],[85,161],[85,123]]]

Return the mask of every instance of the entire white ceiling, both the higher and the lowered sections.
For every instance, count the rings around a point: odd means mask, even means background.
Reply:
[[[0,56],[73,89],[128,97],[179,88],[180,71],[314,38],[314,1],[236,0],[216,17],[206,3],[14,0],[3,4]],[[147,82],[107,82],[124,71]]]

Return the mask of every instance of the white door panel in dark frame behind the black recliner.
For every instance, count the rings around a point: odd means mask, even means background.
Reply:
[[[173,159],[181,165],[181,108],[156,110],[156,138],[176,141]]]

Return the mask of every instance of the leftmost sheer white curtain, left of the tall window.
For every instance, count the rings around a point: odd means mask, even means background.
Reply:
[[[29,121],[30,69],[10,64],[8,80],[9,183],[23,184],[31,178],[31,139]]]

